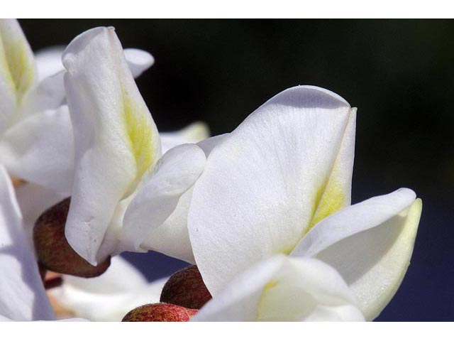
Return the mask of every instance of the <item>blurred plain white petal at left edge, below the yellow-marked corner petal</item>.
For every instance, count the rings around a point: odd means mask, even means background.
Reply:
[[[0,139],[0,160],[14,176],[69,195],[74,141],[67,106],[26,117]]]

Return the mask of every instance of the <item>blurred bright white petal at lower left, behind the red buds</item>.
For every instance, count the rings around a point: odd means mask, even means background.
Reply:
[[[159,302],[168,278],[147,283],[120,256],[111,261],[109,269],[96,278],[63,276],[62,286],[52,289],[50,297],[72,315],[92,321],[120,321],[133,308]]]

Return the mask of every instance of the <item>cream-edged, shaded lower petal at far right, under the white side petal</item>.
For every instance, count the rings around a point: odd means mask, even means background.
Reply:
[[[409,192],[409,195],[413,193],[410,190]],[[343,276],[355,293],[367,320],[376,318],[389,303],[409,266],[422,209],[420,199],[409,199],[404,207],[395,202],[394,209],[400,212],[389,215],[387,220],[345,237],[316,255]],[[384,210],[386,211],[386,208]],[[379,215],[382,214],[380,209],[377,211]],[[375,219],[377,211],[369,211],[370,221]],[[356,217],[361,215],[354,210],[350,212],[350,217],[344,217],[350,222],[354,222]],[[364,212],[362,217],[368,222],[367,212]],[[345,224],[345,220],[343,221]]]

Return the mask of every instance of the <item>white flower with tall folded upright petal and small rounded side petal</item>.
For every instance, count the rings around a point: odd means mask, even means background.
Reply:
[[[142,188],[157,205],[153,213],[158,217],[148,224],[159,226],[160,217],[174,210],[179,196],[200,175],[204,152],[194,145],[177,146],[164,158],[172,159],[170,167],[162,161],[154,180],[149,179],[161,157],[160,136],[114,28],[94,28],[72,40],[63,64],[75,148],[67,240],[91,264],[121,251],[146,251],[140,248],[147,237],[142,227],[123,227],[128,205]],[[205,134],[204,126],[194,125],[167,141],[166,148]],[[150,186],[157,188],[144,193]],[[138,217],[138,210],[144,209],[134,204],[131,210]],[[177,247],[175,239],[172,244]]]

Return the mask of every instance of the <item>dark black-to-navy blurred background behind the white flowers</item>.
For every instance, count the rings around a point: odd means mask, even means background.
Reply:
[[[412,188],[423,214],[411,265],[377,320],[454,320],[454,21],[20,20],[33,50],[115,26],[155,65],[137,83],[160,131],[222,134],[273,95],[318,85],[358,107],[353,202]],[[150,280],[185,264],[125,254]]]

